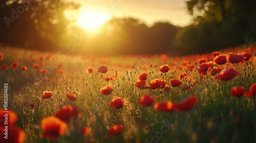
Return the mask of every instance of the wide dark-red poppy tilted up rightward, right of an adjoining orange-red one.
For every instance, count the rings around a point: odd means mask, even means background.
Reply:
[[[197,104],[197,98],[190,96],[185,100],[174,105],[175,110],[179,112],[191,110]]]

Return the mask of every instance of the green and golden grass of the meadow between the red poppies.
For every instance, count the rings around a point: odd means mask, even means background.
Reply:
[[[16,55],[13,55],[14,50],[17,51]],[[65,136],[58,138],[69,142],[84,142],[86,138],[93,138],[95,142],[256,142],[255,97],[236,98],[228,94],[233,86],[244,86],[248,91],[250,85],[255,82],[255,56],[251,57],[251,63],[223,65],[223,69],[226,66],[235,68],[240,75],[230,81],[219,81],[210,76],[209,72],[205,76],[207,80],[204,80],[196,70],[195,63],[198,59],[211,57],[210,54],[199,57],[179,57],[168,73],[161,74],[159,66],[169,65],[175,61],[175,57],[169,57],[166,62],[162,63],[161,56],[151,56],[144,60],[141,58],[144,55],[126,58],[67,55],[63,59],[53,54],[47,60],[48,53],[32,54],[32,51],[19,49],[10,51],[5,47],[2,47],[0,52],[4,55],[4,60],[0,61],[0,65],[8,66],[7,70],[0,70],[0,85],[2,86],[0,104],[4,103],[4,83],[8,83],[8,108],[17,114],[16,125],[26,132],[25,142],[60,142],[41,138],[39,134],[44,132],[40,127],[41,119],[54,115],[62,105],[77,106],[82,113],[81,117],[76,121],[71,121],[68,125],[69,131]],[[254,53],[251,52],[251,54]],[[29,55],[32,55],[36,61],[32,62]],[[42,62],[45,66],[34,69],[32,68],[34,63],[41,64],[37,61],[39,56],[43,57]],[[21,57],[22,60],[17,61],[17,57]],[[181,65],[183,58],[195,65],[191,72],[190,68]],[[12,62],[18,63],[16,69],[10,67]],[[65,70],[65,74],[57,74],[56,71],[59,68],[51,65],[53,62],[61,63],[60,68]],[[98,66],[102,64],[109,67],[108,73],[96,72]],[[152,67],[151,64],[153,64]],[[21,65],[26,65],[28,70],[20,70]],[[144,65],[147,65],[148,69],[143,69]],[[93,74],[87,73],[88,66],[94,68]],[[49,72],[40,74],[40,69],[49,69]],[[186,70],[188,77],[195,81],[195,86],[190,91],[181,90],[182,85],[191,84],[184,80],[181,86],[171,87],[169,92],[156,89],[152,93],[134,85],[139,74],[144,71],[148,74],[146,85],[156,78],[166,80],[165,84],[170,85],[170,79],[178,79],[179,74],[185,73]],[[104,80],[105,76],[116,74],[117,78],[113,81]],[[99,89],[109,84],[113,86],[113,92],[104,96]],[[53,91],[53,96],[42,100],[42,92],[46,90]],[[67,91],[74,92],[77,100],[71,103],[66,97]],[[191,95],[197,97],[198,103],[190,111],[163,113],[155,111],[154,105],[144,107],[138,103],[145,93],[156,97],[155,103],[162,101],[177,103]],[[114,109],[109,105],[114,97],[121,97],[124,100],[122,108]],[[29,106],[32,102],[35,104],[34,108]],[[116,124],[122,124],[124,130],[120,135],[109,137],[108,129]],[[77,133],[86,126],[91,128],[88,136]]]

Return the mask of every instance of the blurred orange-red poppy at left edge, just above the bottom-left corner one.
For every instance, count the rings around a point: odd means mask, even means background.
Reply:
[[[8,110],[4,110],[4,109],[0,109],[0,126],[6,126],[4,123],[5,118],[6,118],[6,112],[4,111],[9,111],[8,112],[8,126],[10,125],[14,125],[18,119],[16,113],[14,113],[12,110],[8,109]]]

